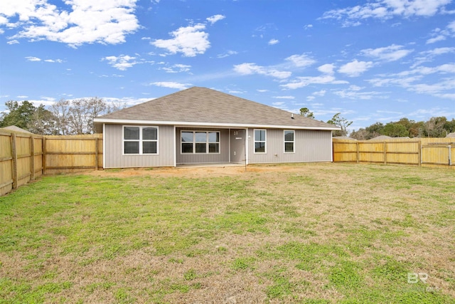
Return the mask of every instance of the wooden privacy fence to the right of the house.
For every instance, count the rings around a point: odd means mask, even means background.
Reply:
[[[333,162],[411,164],[455,169],[455,139],[410,140],[333,139]]]

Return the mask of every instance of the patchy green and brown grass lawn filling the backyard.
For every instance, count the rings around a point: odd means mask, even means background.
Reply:
[[[223,170],[0,197],[0,303],[455,303],[454,171]]]

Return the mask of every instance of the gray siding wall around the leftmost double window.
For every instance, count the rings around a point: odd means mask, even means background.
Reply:
[[[158,126],[158,154],[124,155],[122,125],[105,125],[105,168],[173,167],[175,142],[171,125]]]

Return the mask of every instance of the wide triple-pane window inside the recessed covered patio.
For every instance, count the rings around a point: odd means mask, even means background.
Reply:
[[[182,154],[220,153],[220,132],[216,131],[182,131]]]

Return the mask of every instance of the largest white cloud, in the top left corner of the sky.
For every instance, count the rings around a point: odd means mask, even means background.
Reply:
[[[57,41],[77,47],[83,43],[124,43],[139,23],[134,10],[137,0],[65,0],[72,11],[58,9],[48,0],[4,1],[0,16],[18,33],[9,39]]]

